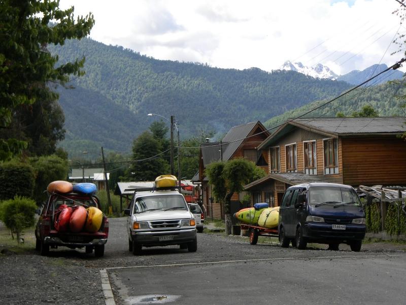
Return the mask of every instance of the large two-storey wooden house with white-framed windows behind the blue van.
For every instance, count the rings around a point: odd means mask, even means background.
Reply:
[[[288,121],[258,145],[268,151],[269,174],[245,189],[253,203],[278,206],[285,189],[301,182],[405,186],[405,122],[406,117]]]

